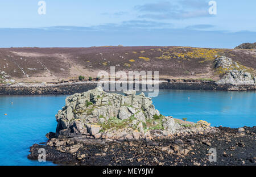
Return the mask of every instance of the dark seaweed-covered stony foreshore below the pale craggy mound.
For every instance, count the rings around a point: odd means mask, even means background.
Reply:
[[[52,134],[47,145],[31,146],[28,158],[37,160],[38,149],[44,148],[46,160],[60,165],[256,165],[256,127],[217,129],[220,131],[130,142],[56,139]],[[217,162],[209,162],[210,148],[216,148]]]

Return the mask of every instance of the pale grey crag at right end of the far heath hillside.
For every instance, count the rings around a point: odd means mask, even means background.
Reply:
[[[224,76],[218,81],[218,84],[232,85],[255,85],[256,79],[249,73],[245,66],[233,62],[231,58],[222,56],[214,61],[214,68]]]

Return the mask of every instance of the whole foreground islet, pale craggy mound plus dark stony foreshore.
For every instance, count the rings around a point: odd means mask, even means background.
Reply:
[[[29,159],[61,165],[253,165],[256,127],[210,127],[163,116],[143,92],[97,87],[65,99],[56,132],[30,147]],[[210,161],[211,149],[217,160]]]

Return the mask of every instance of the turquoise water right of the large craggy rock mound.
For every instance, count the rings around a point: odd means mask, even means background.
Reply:
[[[228,91],[160,91],[152,99],[163,115],[206,120],[212,126],[253,127],[256,125],[256,92]]]

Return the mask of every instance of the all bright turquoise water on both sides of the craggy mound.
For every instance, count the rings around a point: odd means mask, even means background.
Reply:
[[[0,165],[53,165],[30,161],[27,155],[31,145],[46,142],[45,134],[55,132],[55,114],[64,106],[65,97],[0,96]],[[207,120],[213,126],[256,125],[254,91],[163,90],[152,100],[163,115]]]

